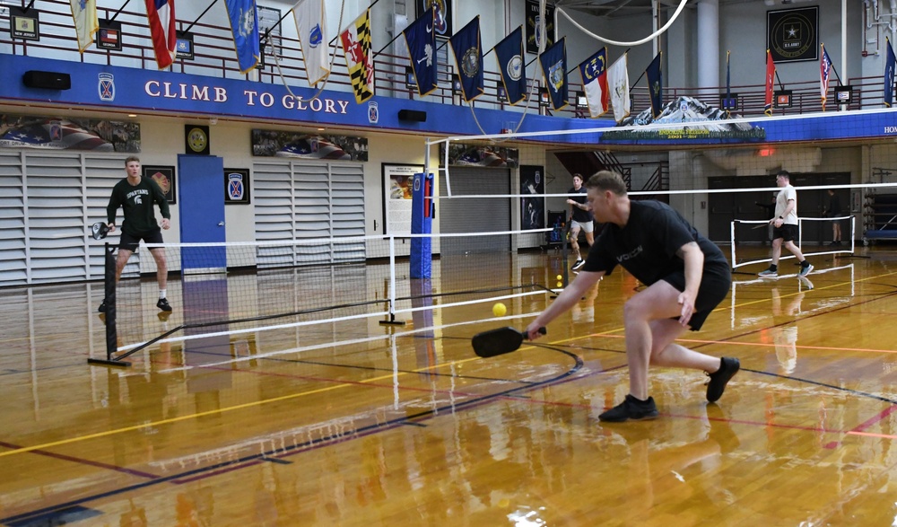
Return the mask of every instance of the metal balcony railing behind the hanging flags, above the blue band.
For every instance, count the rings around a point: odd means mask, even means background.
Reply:
[[[99,8],[100,18],[110,19],[115,17],[122,24],[122,49],[110,51],[98,49],[93,46],[79,54],[77,51],[74,22],[72,20],[71,6],[63,0],[45,0],[40,7],[40,40],[13,40],[8,31],[10,16],[7,10],[0,14],[0,53],[30,57],[48,57],[75,62],[105,64],[108,66],[129,66],[144,69],[156,67],[152,51],[149,29],[144,13],[133,11],[118,12],[114,9]],[[287,16],[285,23],[292,21]],[[284,23],[282,22],[282,23]],[[346,21],[344,21],[346,22]],[[193,59],[178,58],[171,67],[172,71],[205,75],[222,78],[245,78],[250,80],[255,75],[241,74],[237,64],[237,57],[233,48],[231,29],[227,26],[215,26],[202,22],[190,23],[178,21],[179,31],[190,28],[194,37],[195,56]],[[331,40],[331,57],[333,60],[333,72],[327,80],[327,89],[339,92],[352,92],[352,84],[342,59],[343,51],[337,39]],[[277,61],[280,70],[274,64],[274,56],[270,54],[272,45],[266,47],[264,66],[257,69],[257,78],[262,83],[280,83],[281,75],[286,83],[292,86],[308,86],[308,76],[305,73],[304,61],[301,57],[298,40],[288,37],[277,37],[278,53]],[[441,43],[440,46],[448,46]],[[439,55],[439,54],[438,54]],[[450,52],[442,57],[450,57]],[[405,82],[405,67],[410,66],[408,57],[392,55],[380,52],[374,59],[375,93],[381,96],[396,99],[418,98],[416,90]],[[494,65],[494,59],[486,57],[484,64]],[[422,98],[443,104],[464,104],[457,93],[452,91],[451,78],[455,71],[453,63],[446,60],[438,62],[440,71],[440,83],[435,92]],[[534,68],[539,72],[538,66]],[[575,74],[574,74],[575,75]],[[541,75],[536,73],[536,79],[529,81],[530,85],[541,86]],[[759,76],[759,75],[758,75]],[[485,92],[476,101],[472,101],[475,107],[490,108],[494,110],[522,111],[522,106],[512,107],[499,98],[498,86],[501,85],[501,75],[490,71],[488,67],[484,71]],[[849,85],[853,87],[853,100],[846,109],[858,110],[867,108],[880,108],[883,105],[884,81],[882,77],[855,77],[850,78]],[[833,101],[834,82],[830,84],[830,99],[826,110],[838,110],[839,106]],[[819,81],[810,80],[799,83],[789,83],[784,86],[791,91],[791,106],[788,108],[775,108],[775,115],[800,114],[806,112],[821,111],[822,101],[819,92]],[[779,86],[777,86],[777,89]],[[588,119],[588,111],[577,108],[575,105],[576,92],[583,91],[580,83],[569,83],[570,101],[573,104],[562,110],[543,109],[544,114],[567,119]],[[536,89],[535,92],[538,92]],[[720,95],[726,92],[725,86],[705,88],[666,87],[664,103],[675,101],[680,96],[688,96],[697,99],[711,107],[719,107]],[[731,87],[731,92],[737,93],[737,107],[733,114],[741,116],[762,116],[765,102],[764,84],[744,84]],[[631,88],[631,108],[633,113],[638,113],[650,108],[650,97],[647,86],[635,86]],[[530,102],[530,111],[537,107],[536,95]]]

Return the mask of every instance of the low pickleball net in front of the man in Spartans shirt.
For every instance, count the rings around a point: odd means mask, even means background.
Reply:
[[[447,307],[480,305],[476,309],[486,312],[495,302],[551,294],[557,266],[544,265],[544,251],[527,242],[533,234],[429,235],[435,253],[431,278],[409,273],[407,245],[425,235],[141,246],[136,269],[115,287],[110,311],[116,344],[107,361],[91,363],[127,365],[127,357],[156,345],[199,349],[221,338],[266,340],[287,349],[320,338],[368,335],[383,324],[432,324],[433,312]],[[457,244],[481,236],[509,243],[440,254],[448,239]],[[164,250],[170,269],[166,296],[172,312],[155,307],[159,288],[148,254],[155,248]],[[436,316],[446,323],[463,312]]]

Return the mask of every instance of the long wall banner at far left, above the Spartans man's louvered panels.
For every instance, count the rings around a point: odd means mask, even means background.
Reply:
[[[0,114],[0,147],[140,152],[140,125],[100,119]]]

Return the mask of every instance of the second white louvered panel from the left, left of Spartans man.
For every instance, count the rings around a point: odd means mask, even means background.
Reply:
[[[80,154],[26,154],[30,282],[83,280],[84,189]]]

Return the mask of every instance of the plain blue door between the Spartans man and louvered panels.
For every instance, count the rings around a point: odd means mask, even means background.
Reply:
[[[224,160],[213,155],[178,155],[180,241],[225,242]],[[185,247],[181,272],[215,272],[227,268],[224,247]]]

